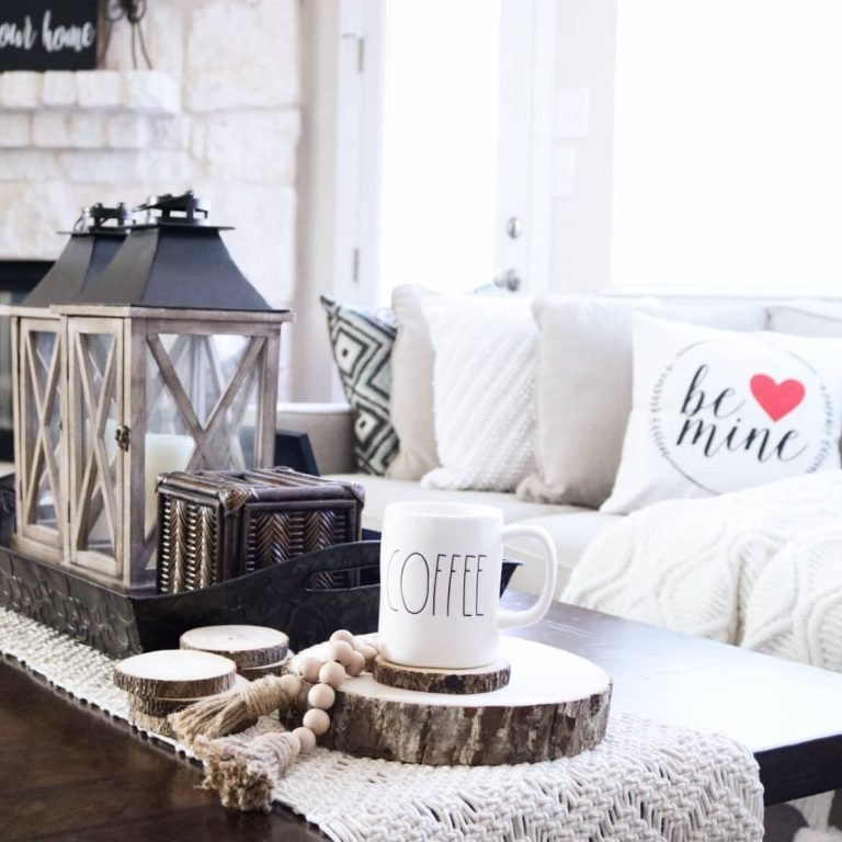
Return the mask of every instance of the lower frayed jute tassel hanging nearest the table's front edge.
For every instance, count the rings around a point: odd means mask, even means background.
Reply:
[[[288,731],[271,731],[250,741],[238,737],[198,738],[193,744],[205,764],[205,789],[216,789],[225,807],[264,810],[272,807],[275,783],[293,765],[300,749]]]

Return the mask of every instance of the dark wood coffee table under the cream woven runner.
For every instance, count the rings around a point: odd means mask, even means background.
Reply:
[[[509,594],[507,604],[526,600]],[[760,762],[766,804],[842,788],[842,674],[555,604],[520,633],[614,676],[625,709],[722,730]],[[239,813],[198,766],[0,661],[0,839],[315,840],[291,812]]]

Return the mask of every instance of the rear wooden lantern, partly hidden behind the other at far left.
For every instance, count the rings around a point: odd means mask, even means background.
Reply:
[[[124,205],[84,208],[61,255],[38,285],[8,308],[12,328],[16,549],[61,562],[67,503],[62,391],[65,335],[53,304],[71,301],[111,262],[127,234]]]

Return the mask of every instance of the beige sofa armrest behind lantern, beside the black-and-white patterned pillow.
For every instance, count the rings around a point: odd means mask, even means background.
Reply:
[[[348,403],[278,403],[281,431],[307,433],[321,474],[353,474],[354,414]]]

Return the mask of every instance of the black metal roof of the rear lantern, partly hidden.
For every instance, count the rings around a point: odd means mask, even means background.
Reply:
[[[65,250],[37,286],[24,298],[24,307],[49,307],[75,301],[111,263],[132,226],[132,212],[121,203],[86,207],[70,232]]]

